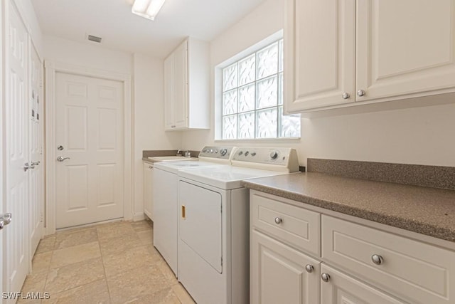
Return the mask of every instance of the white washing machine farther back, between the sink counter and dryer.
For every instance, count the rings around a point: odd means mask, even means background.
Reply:
[[[196,161],[156,162],[152,172],[154,199],[154,246],[178,274],[177,174],[181,169],[230,167],[233,147],[204,147]]]

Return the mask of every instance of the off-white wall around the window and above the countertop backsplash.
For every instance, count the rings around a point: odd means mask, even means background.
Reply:
[[[269,0],[211,42],[211,88],[215,65],[235,56],[283,25],[283,0]],[[212,92],[212,104],[215,103]],[[212,107],[212,113],[213,107]],[[455,105],[302,119],[301,140],[216,142],[218,145],[289,146],[307,157],[429,164],[455,167]],[[211,129],[183,133],[183,147],[214,143]]]

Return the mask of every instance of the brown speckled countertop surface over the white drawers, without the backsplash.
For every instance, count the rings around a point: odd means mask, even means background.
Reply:
[[[455,191],[319,172],[248,179],[250,189],[455,242]]]

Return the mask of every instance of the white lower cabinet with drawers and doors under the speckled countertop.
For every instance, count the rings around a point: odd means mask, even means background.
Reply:
[[[451,247],[323,213],[250,190],[251,303],[455,303]]]

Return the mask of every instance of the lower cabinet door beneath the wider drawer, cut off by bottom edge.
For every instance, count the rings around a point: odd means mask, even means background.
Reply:
[[[323,273],[330,278],[328,282],[321,281],[321,304],[405,303],[321,263],[321,275]]]

